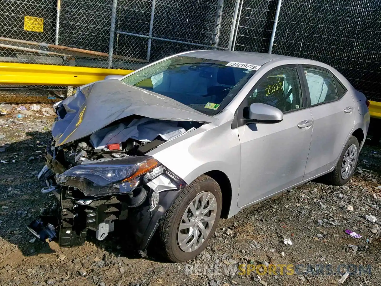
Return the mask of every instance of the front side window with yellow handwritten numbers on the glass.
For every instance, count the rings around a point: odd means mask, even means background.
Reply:
[[[248,104],[264,103],[283,112],[302,108],[302,95],[295,67],[285,67],[261,79],[251,91]]]

